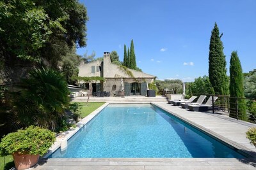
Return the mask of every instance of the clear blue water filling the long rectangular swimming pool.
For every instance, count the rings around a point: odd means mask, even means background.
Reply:
[[[151,104],[109,104],[52,158],[243,158]]]

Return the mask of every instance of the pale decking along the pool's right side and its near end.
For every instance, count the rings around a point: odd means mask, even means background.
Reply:
[[[207,112],[183,110],[167,102],[152,103],[215,138],[246,152],[247,159],[44,159],[31,169],[255,169],[256,149],[245,132],[254,124]]]

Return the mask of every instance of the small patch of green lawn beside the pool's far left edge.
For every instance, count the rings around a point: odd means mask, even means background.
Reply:
[[[89,102],[86,106],[86,102],[78,102],[81,105],[81,118],[87,117],[90,113],[97,110],[105,102]]]

